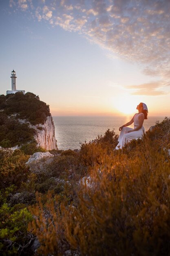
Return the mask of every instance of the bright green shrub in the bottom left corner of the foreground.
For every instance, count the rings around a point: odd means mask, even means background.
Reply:
[[[30,243],[33,236],[27,232],[27,225],[32,216],[22,204],[12,207],[7,204],[13,189],[11,186],[0,192],[0,254],[31,255]]]

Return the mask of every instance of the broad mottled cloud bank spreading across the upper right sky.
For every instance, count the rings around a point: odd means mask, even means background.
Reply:
[[[161,77],[161,91],[148,83],[147,95],[163,94],[163,86],[170,85],[169,0],[41,0],[38,3],[34,8],[38,21],[48,20],[51,25],[78,31],[110,53],[139,63],[144,74]],[[15,5],[22,11],[31,8],[30,1],[10,0],[10,6]]]

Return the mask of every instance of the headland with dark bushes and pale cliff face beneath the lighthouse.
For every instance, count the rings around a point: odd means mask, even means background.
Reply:
[[[46,145],[47,140],[49,143],[52,141],[51,146]],[[38,151],[40,147],[57,149],[49,106],[31,92],[0,95],[0,146],[27,145],[30,148],[30,144],[32,153],[36,151],[36,146],[39,146]]]

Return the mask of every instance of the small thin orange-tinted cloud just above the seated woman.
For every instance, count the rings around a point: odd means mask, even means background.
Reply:
[[[132,95],[158,96],[166,94],[166,92],[159,90],[163,87],[163,85],[163,81],[152,81],[150,83],[143,83],[141,85],[130,85],[126,88],[135,90],[135,92],[132,92]]]

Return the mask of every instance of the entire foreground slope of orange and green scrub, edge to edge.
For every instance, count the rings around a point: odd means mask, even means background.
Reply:
[[[169,141],[166,118],[122,150],[110,130],[29,167],[1,150],[0,254],[169,255]]]

